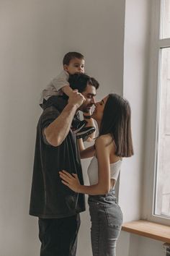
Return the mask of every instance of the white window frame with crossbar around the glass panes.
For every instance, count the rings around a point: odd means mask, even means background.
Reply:
[[[143,192],[143,218],[148,221],[170,225],[170,219],[162,216],[156,216],[154,212],[154,193],[156,178],[156,156],[158,145],[158,122],[159,111],[158,101],[160,100],[159,91],[159,49],[170,46],[170,38],[159,39],[160,20],[161,20],[161,0],[152,0],[151,14],[151,46],[148,74],[148,106],[146,116],[146,158],[145,158],[145,177]]]

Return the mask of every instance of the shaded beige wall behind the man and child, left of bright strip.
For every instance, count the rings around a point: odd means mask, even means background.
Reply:
[[[125,0],[0,1],[0,256],[39,255],[28,211],[42,88],[66,52],[81,51],[98,98],[122,94],[124,17]],[[81,221],[77,255],[91,255],[88,211]]]

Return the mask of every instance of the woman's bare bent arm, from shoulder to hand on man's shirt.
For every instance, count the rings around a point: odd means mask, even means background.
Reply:
[[[79,183],[76,174],[68,174],[67,171],[61,171],[60,176],[63,184],[75,192],[88,195],[105,195],[110,189],[110,167],[109,153],[110,147],[106,146],[104,137],[99,137],[95,143],[98,161],[98,183],[91,186],[84,186]]]

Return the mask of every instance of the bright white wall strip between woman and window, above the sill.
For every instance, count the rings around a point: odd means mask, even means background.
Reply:
[[[125,208],[125,222],[139,219],[141,212],[150,9],[148,0],[126,1],[123,96],[132,108],[135,155],[124,161],[120,176],[120,205]],[[125,195],[129,195],[128,200]]]

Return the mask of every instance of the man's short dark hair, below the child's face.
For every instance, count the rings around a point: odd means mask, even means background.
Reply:
[[[79,90],[79,93],[83,93],[86,90],[87,84],[94,86],[96,89],[99,88],[99,82],[94,77],[89,77],[89,75],[83,73],[70,74],[68,82],[70,87],[73,90]]]

